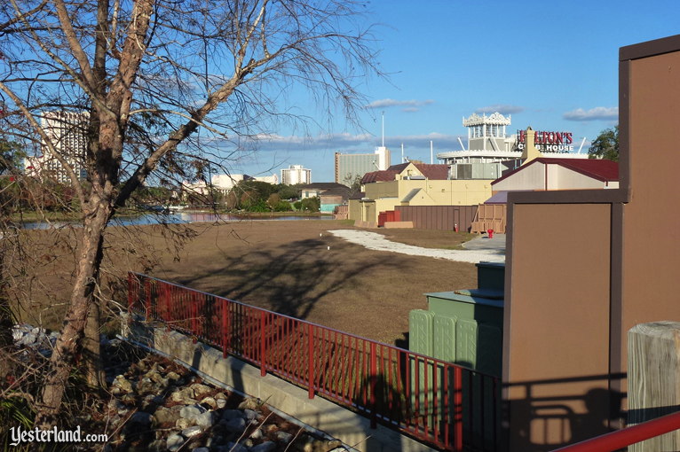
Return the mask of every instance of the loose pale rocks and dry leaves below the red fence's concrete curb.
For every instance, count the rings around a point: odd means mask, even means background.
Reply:
[[[15,344],[51,354],[56,333],[12,329]],[[190,370],[118,339],[102,341],[110,399],[88,415],[89,433],[107,433],[105,450],[145,452],[328,452],[338,440],[305,431],[263,401],[211,386]],[[106,425],[106,432],[95,425]],[[84,425],[83,425],[84,428]]]

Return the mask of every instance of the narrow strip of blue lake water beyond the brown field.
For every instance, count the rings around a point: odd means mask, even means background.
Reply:
[[[273,220],[279,221],[304,221],[304,220],[332,220],[332,215],[320,216],[242,216],[233,214],[210,214],[201,212],[172,212],[169,214],[153,213],[143,214],[137,216],[116,216],[109,225],[111,226],[132,226],[143,224],[160,224],[160,223],[192,223],[192,222],[270,222]],[[60,228],[66,226],[69,222],[25,222],[23,227],[28,230]],[[76,224],[76,223],[73,223]]]

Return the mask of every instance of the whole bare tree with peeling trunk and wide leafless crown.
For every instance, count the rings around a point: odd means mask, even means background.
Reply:
[[[352,118],[363,102],[356,87],[379,74],[361,8],[345,0],[5,4],[4,127],[59,162],[82,207],[75,284],[36,426],[55,421],[86,324],[98,331],[104,232],[116,209],[150,176],[228,165],[249,138],[273,132],[273,119],[304,120],[287,105],[289,90],[303,87],[325,113]],[[54,111],[83,115],[63,122],[85,137],[84,152],[51,134]],[[20,122],[28,127],[12,129]]]

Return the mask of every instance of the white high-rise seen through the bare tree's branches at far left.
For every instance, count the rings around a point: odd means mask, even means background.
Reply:
[[[90,114],[87,112],[46,112],[40,120],[40,126],[54,148],[79,179],[87,176],[85,152],[89,119]],[[43,155],[26,160],[27,174],[49,178],[59,183],[69,183],[71,178],[66,168],[55,158],[44,140],[41,152]]]

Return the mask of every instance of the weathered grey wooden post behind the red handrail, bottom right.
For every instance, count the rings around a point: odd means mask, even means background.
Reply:
[[[629,330],[628,425],[680,410],[680,323],[641,323]],[[680,431],[638,442],[630,452],[680,450]]]

